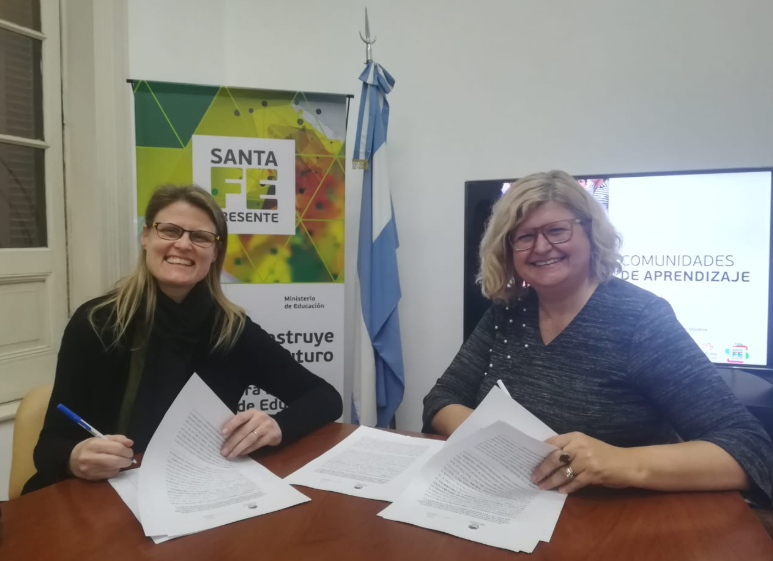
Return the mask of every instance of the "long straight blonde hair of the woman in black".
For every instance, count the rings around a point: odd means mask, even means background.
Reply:
[[[196,185],[164,185],[156,189],[148,201],[145,226],[152,227],[161,209],[180,201],[206,212],[220,236],[220,240],[215,242],[217,256],[209,267],[205,282],[217,310],[212,349],[229,350],[236,344],[244,329],[245,313],[225,297],[220,285],[220,273],[223,270],[228,249],[228,223],[215,199]],[[119,341],[129,336],[129,327],[135,320],[142,321],[145,331],[150,331],[156,309],[157,291],[158,286],[148,270],[146,252],[143,249],[140,251],[134,270],[121,279],[117,287],[89,311],[89,323],[103,343],[105,341],[103,336],[107,334],[109,339],[112,339],[109,345],[105,345],[106,347],[117,346]],[[100,310],[109,310],[109,314],[106,322],[104,324],[100,322],[98,325],[96,314]]]

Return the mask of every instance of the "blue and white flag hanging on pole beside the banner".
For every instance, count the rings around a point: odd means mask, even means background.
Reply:
[[[354,406],[363,425],[389,425],[403,399],[405,373],[400,341],[400,279],[397,226],[387,163],[386,94],[394,79],[368,63],[363,81],[354,159],[367,161],[363,174],[357,252],[357,315]]]

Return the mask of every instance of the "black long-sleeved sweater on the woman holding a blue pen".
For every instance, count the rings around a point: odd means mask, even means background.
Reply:
[[[103,434],[116,433],[129,377],[129,349],[136,341],[125,340],[106,348],[110,341],[103,343],[88,321],[89,310],[100,301],[95,299],[78,308],[65,329],[51,402],[35,447],[38,471],[24,486],[24,493],[67,478],[72,449],[89,438],[56,410],[57,404],[66,405]],[[194,372],[234,412],[250,385],[281,399],[287,408],[274,419],[282,430],[283,445],[341,416],[341,396],[335,388],[298,364],[249,318],[230,351],[212,351],[215,310],[202,284],[181,304],[159,291],[142,378],[125,435],[134,440],[135,453],[145,450]],[[102,312],[97,314],[98,322],[105,320],[109,310]]]

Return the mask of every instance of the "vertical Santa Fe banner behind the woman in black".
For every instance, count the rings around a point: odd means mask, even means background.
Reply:
[[[226,296],[343,394],[347,97],[149,81],[133,90],[139,224],[160,185],[211,193],[228,222]],[[239,409],[253,407],[284,404],[245,388]]]

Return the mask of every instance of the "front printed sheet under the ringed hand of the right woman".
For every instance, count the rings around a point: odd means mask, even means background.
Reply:
[[[566,500],[530,480],[554,450],[497,421],[443,447],[379,516],[531,552],[539,540],[550,539]]]

